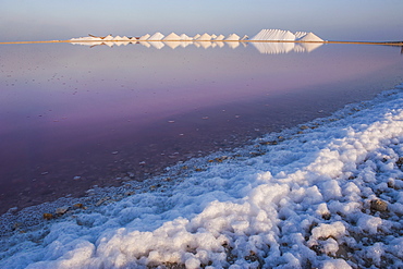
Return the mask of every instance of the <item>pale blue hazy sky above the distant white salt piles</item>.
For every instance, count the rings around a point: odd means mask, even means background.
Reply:
[[[403,40],[402,0],[0,0],[0,41],[94,35],[254,36],[262,28],[327,40]]]

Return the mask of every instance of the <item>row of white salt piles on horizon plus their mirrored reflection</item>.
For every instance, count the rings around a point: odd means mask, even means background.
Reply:
[[[321,46],[323,40],[313,33],[296,32],[295,34],[290,30],[281,29],[262,29],[253,38],[248,39],[248,36],[240,37],[236,34],[230,34],[227,37],[224,35],[215,35],[204,33],[203,35],[195,35],[190,37],[185,34],[178,35],[171,33],[168,36],[157,32],[154,35],[146,34],[141,37],[126,37],[108,35],[105,37],[89,36],[72,38],[72,44],[86,45],[86,46],[98,46],[106,45],[112,46],[126,46],[129,44],[141,44],[147,48],[154,47],[161,49],[164,46],[175,49],[178,47],[187,47],[194,45],[197,48],[222,48],[227,44],[228,47],[235,49],[243,44],[253,42],[260,53],[277,54],[288,53],[290,51],[295,52],[309,52]]]

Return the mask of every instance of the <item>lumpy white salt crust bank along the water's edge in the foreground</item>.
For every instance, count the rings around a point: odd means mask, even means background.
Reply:
[[[56,219],[10,210],[0,267],[403,268],[402,89]]]

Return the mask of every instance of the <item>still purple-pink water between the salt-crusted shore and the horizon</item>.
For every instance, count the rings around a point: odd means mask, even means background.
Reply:
[[[0,212],[142,181],[402,82],[400,48],[270,46],[1,46]]]

